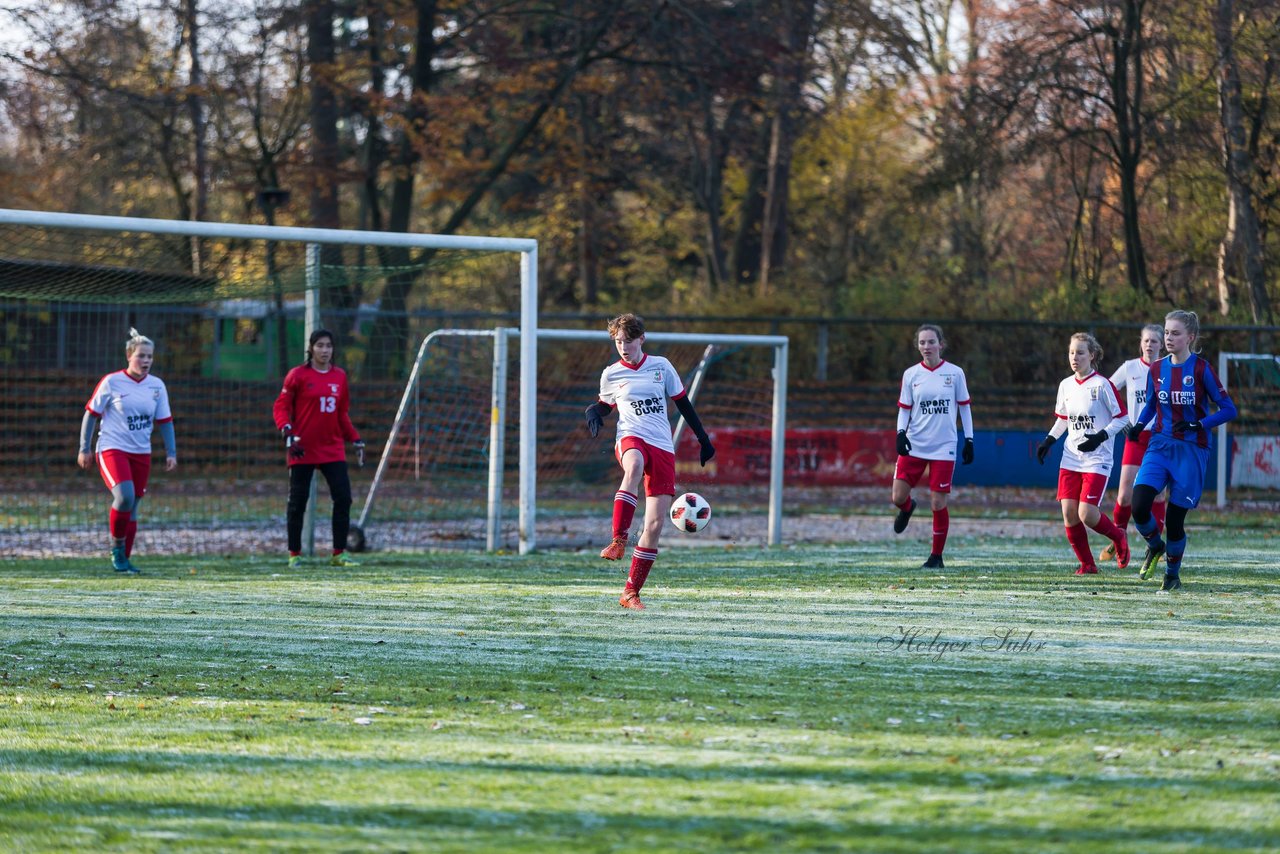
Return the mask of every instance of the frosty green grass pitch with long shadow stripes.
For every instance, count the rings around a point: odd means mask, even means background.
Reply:
[[[1276,544],[8,562],[0,849],[1275,850]]]

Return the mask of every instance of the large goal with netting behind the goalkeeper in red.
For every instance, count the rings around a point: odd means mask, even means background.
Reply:
[[[439,326],[522,323],[535,247],[0,210],[0,556],[105,553],[110,495],[76,465],[77,440],[95,384],[125,366],[131,326],[156,342],[178,440],[178,470],[152,467],[140,556],[283,553],[288,475],[271,405],[307,333],[332,330],[348,373],[370,448],[366,469],[352,465],[358,497],[417,343]]]

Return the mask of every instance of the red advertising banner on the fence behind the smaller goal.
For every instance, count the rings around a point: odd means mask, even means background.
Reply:
[[[676,474],[682,484],[767,484],[773,431],[710,431],[716,458],[698,465],[698,439],[680,437]],[[787,430],[783,479],[790,485],[888,487],[897,451],[891,430]]]

